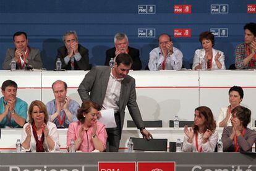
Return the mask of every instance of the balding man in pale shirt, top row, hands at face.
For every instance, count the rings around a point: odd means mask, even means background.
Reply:
[[[182,52],[173,47],[171,36],[163,33],[158,37],[159,47],[150,52],[148,69],[150,70],[180,70],[182,67]]]

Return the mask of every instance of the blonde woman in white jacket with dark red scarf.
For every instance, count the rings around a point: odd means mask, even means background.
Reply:
[[[28,123],[23,126],[22,149],[32,152],[59,151],[59,133],[54,123],[48,122],[45,104],[33,101],[28,108]]]

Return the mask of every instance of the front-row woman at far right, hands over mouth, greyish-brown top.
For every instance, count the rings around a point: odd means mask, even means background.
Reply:
[[[235,107],[231,112],[232,127],[224,127],[221,141],[223,151],[252,151],[256,140],[256,131],[247,128],[251,112],[243,106]]]

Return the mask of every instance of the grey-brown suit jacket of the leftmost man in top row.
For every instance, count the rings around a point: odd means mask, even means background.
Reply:
[[[29,47],[30,48],[30,47]],[[6,59],[4,59],[4,63],[2,64],[2,69],[9,70],[11,69],[11,60],[15,57],[16,48],[10,48],[6,51]],[[33,69],[42,69],[43,64],[40,57],[40,50],[36,48],[30,48],[28,52],[28,64],[32,65]],[[20,69],[19,64],[16,64],[16,69]]]

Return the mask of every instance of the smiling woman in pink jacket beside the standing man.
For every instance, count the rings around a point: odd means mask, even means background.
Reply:
[[[85,101],[77,111],[79,121],[69,124],[67,130],[67,150],[74,140],[75,150],[91,152],[95,149],[105,151],[108,137],[105,125],[97,122],[100,106],[92,101]]]

